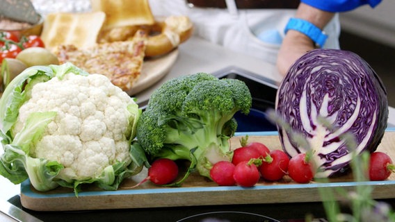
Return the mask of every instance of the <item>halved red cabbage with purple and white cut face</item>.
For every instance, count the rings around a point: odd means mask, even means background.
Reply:
[[[385,86],[369,64],[350,51],[314,49],[302,56],[277,90],[275,107],[314,150],[320,168],[317,178],[338,175],[348,168],[350,149],[341,135],[355,137],[357,153],[373,152],[387,128]],[[277,125],[286,153],[293,156],[306,151],[288,130]]]

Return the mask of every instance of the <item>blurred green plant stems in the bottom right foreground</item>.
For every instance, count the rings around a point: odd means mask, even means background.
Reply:
[[[287,130],[292,139],[306,148],[307,152],[314,152],[312,144],[309,144],[304,135],[291,128],[289,123],[279,117],[274,110],[268,111],[268,119]],[[334,130],[333,126],[323,117],[318,117],[318,121],[328,130]],[[355,135],[344,133],[339,135],[341,140],[346,143],[348,151],[352,153],[350,169],[356,186],[353,189],[343,187],[327,186],[329,178],[315,178],[314,181],[319,185],[319,194],[322,199],[323,207],[329,222],[395,222],[395,212],[388,203],[374,200],[371,196],[373,187],[369,185],[369,158],[370,153],[364,151],[359,155],[355,151],[357,146]],[[341,200],[339,197],[341,196]],[[342,209],[347,212],[342,212]],[[307,215],[305,221],[312,222],[312,215]]]

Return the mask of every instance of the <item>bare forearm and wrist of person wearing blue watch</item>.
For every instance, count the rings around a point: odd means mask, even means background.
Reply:
[[[333,16],[333,12],[320,10],[303,2],[300,3],[295,15],[296,18],[311,22],[321,30]],[[293,62],[314,48],[315,43],[307,35],[292,29],[287,31],[277,56],[277,68],[280,74],[285,76]]]

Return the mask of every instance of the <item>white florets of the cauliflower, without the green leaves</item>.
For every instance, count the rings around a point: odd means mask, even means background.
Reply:
[[[31,99],[19,108],[13,135],[22,130],[32,112],[57,112],[30,149],[31,157],[63,164],[61,173],[72,179],[94,178],[108,165],[131,162],[130,103],[134,100],[103,75],[51,78],[34,85]]]

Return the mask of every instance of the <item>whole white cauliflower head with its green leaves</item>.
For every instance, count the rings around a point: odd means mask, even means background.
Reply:
[[[26,69],[0,101],[0,174],[14,183],[29,178],[40,191],[61,185],[77,192],[92,182],[117,189],[141,168],[132,166],[130,152],[140,114],[104,75],[70,63]],[[31,159],[40,170],[30,169]],[[18,164],[22,178],[13,173]]]

